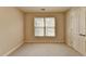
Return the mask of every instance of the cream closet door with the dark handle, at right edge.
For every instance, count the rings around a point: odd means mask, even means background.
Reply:
[[[86,8],[79,8],[79,52],[86,55]]]

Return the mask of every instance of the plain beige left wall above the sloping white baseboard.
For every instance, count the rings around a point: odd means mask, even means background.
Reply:
[[[0,55],[23,42],[23,13],[15,8],[0,8]]]

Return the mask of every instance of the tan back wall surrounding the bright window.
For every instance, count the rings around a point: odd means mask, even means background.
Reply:
[[[34,36],[34,17],[54,16],[57,20],[57,36],[54,38],[38,38]],[[64,42],[63,13],[27,13],[25,15],[25,42]]]

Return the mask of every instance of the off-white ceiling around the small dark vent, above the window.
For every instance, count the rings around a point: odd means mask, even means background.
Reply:
[[[23,12],[65,12],[70,7],[19,7]],[[41,9],[45,9],[42,11]]]

